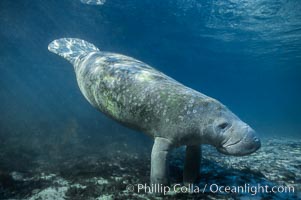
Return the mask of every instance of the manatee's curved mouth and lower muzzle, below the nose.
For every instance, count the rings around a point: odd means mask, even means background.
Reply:
[[[255,131],[251,130],[244,137],[236,141],[228,139],[217,150],[226,155],[245,156],[257,151],[261,147],[259,138],[255,135]]]

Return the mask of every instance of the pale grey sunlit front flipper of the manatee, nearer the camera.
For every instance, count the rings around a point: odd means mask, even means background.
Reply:
[[[151,184],[168,184],[168,154],[172,143],[156,137],[151,155]]]

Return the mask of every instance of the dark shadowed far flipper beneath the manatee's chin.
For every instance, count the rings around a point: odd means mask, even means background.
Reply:
[[[200,145],[186,147],[184,183],[194,183],[197,180],[200,173],[201,153]]]

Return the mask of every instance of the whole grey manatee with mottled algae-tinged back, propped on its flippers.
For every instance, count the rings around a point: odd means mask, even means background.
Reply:
[[[186,146],[183,181],[200,170],[201,144],[244,156],[261,146],[255,131],[214,98],[134,58],[100,51],[76,38],[54,40],[48,49],[74,66],[78,86],[99,111],[154,138],[151,183],[169,184],[168,155]]]

